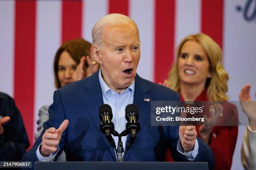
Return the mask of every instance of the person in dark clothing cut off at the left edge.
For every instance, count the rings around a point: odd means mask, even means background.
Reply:
[[[20,111],[12,97],[0,92],[0,161],[20,161],[28,146]]]

